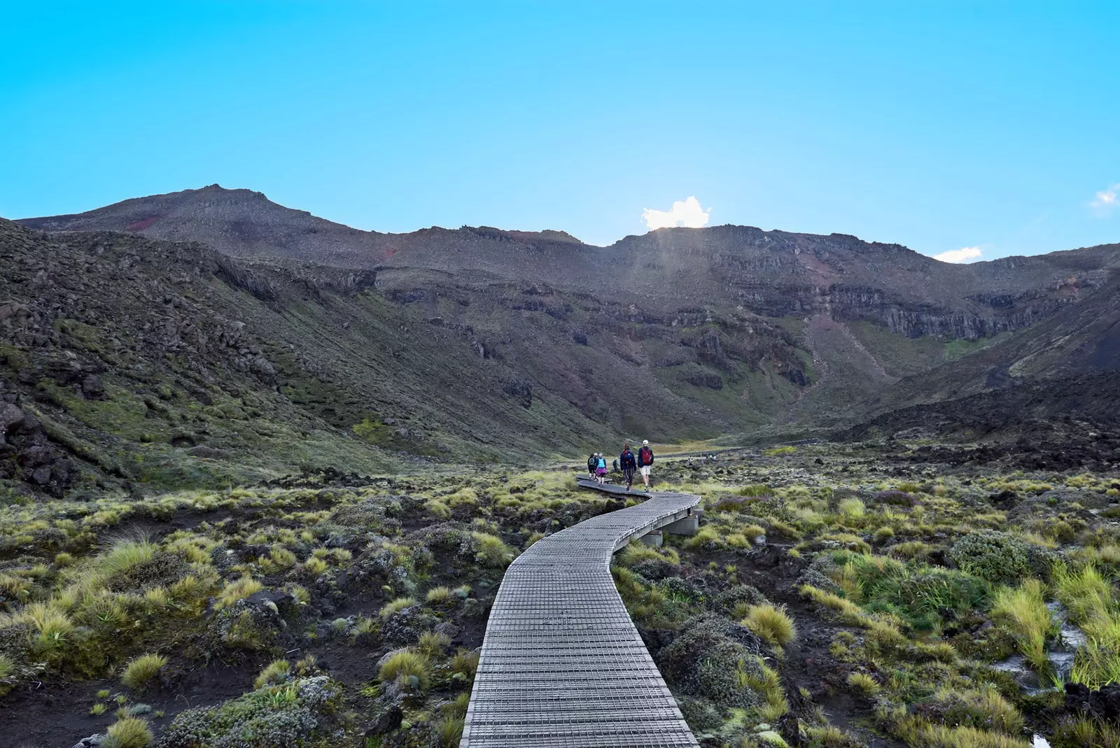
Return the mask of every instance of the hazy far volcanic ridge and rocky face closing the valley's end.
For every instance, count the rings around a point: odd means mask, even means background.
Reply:
[[[1076,310],[1102,303],[1120,267],[1120,245],[951,265],[896,244],[743,226],[606,247],[551,231],[381,234],[217,185],[22,223],[189,239],[248,267],[374,270],[385,300],[467,339],[505,367],[511,391],[659,438],[825,428],[923,392],[951,396],[962,375],[939,370],[946,359],[1055,315],[1086,321]],[[940,371],[943,385],[912,383],[930,370],[921,381]]]

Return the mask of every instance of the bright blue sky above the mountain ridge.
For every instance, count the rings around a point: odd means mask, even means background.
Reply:
[[[393,232],[1120,241],[1118,2],[3,9],[6,217],[218,183]]]

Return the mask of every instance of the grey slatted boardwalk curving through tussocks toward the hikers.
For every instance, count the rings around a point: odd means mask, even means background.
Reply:
[[[610,577],[612,553],[700,502],[648,496],[544,537],[510,565],[459,748],[697,746]]]

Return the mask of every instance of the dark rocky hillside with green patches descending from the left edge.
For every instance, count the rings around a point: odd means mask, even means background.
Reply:
[[[479,356],[469,330],[381,298],[373,272],[246,267],[120,233],[56,241],[2,219],[0,264],[8,486],[524,460],[616,437]]]

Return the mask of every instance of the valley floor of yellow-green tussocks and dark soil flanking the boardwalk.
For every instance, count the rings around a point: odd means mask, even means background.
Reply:
[[[0,735],[456,746],[505,567],[641,501],[580,490],[577,469],[7,506]],[[654,476],[703,496],[700,532],[613,571],[701,745],[1120,745],[1117,473],[876,442]]]

